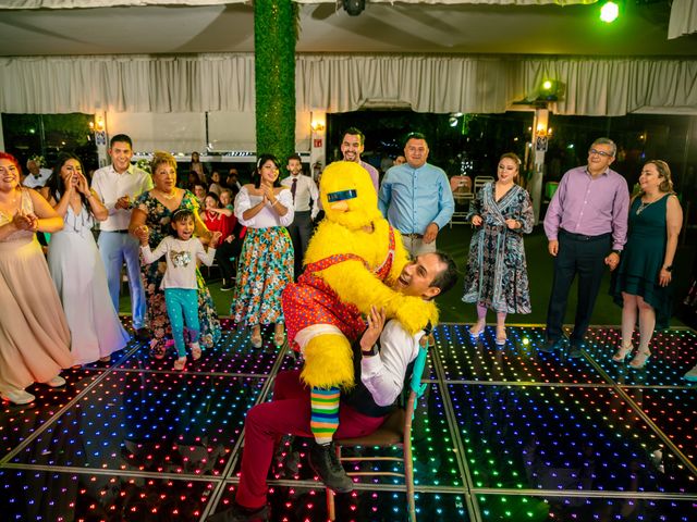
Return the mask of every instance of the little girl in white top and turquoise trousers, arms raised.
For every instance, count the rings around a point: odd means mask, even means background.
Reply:
[[[196,287],[196,258],[210,266],[216,257],[213,248],[220,239],[220,232],[215,232],[210,239],[211,247],[204,249],[200,240],[194,235],[194,213],[188,209],[176,210],[172,214],[173,235],[168,236],[157,246],[155,251],[148,246],[149,231],[142,225],[136,234],[140,239],[143,262],[150,264],[164,254],[167,271],[162,277],[167,314],[172,323],[172,337],[179,353],[174,361],[174,370],[182,371],[186,365],[186,347],[184,344],[184,324],[192,339],[192,359],[200,358],[198,344],[198,295]]]

